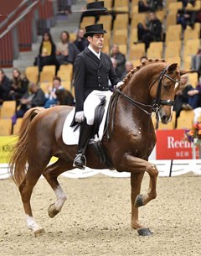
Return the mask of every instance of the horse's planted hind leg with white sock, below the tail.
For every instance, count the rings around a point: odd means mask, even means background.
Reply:
[[[37,222],[34,221],[30,204],[33,186],[36,185],[40,175],[41,174],[37,172],[37,170],[32,171],[30,174],[30,168],[28,168],[27,175],[24,177],[23,182],[19,185],[19,191],[23,201],[23,208],[26,215],[27,226],[34,232],[35,236],[44,232],[44,228],[40,227]]]

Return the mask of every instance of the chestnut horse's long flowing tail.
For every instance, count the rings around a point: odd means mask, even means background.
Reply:
[[[18,142],[13,147],[13,152],[9,160],[9,172],[16,183],[20,185],[23,181],[24,175],[27,172],[27,159],[28,159],[28,129],[33,118],[41,111],[44,107],[33,107],[25,112],[23,116],[23,123],[18,133]]]

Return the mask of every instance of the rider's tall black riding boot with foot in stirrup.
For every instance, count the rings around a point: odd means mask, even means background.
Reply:
[[[85,121],[81,124],[80,138],[78,143],[78,153],[75,156],[73,166],[80,169],[85,169],[86,159],[85,150],[92,136],[93,126],[88,125]]]

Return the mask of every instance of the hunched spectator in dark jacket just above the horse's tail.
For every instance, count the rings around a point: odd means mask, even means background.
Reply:
[[[44,91],[34,83],[28,85],[28,91],[25,92],[20,100],[20,108],[12,117],[13,124],[17,118],[23,118],[25,112],[31,107],[43,107],[45,102]]]

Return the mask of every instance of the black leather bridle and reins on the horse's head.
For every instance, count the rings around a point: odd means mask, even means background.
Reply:
[[[157,76],[157,78],[152,82],[151,86],[149,86],[149,89],[151,90],[152,86],[159,79],[158,84],[157,84],[157,96],[152,105],[143,104],[142,102],[137,102],[137,101],[133,100],[131,97],[126,96],[126,94],[124,94],[122,91],[120,91],[119,88],[116,88],[116,86],[114,86],[114,89],[118,94],[120,94],[122,97],[124,97],[127,102],[130,102],[133,106],[138,107],[139,109],[141,109],[143,112],[147,113],[147,115],[149,115],[151,117],[152,112],[156,112],[156,113],[159,112],[161,106],[164,106],[164,105],[173,106],[173,104],[174,104],[174,102],[171,100],[164,101],[161,99],[161,89],[162,89],[163,77],[167,77],[169,80],[174,81],[175,85],[180,82],[180,80],[177,80],[177,79],[175,80],[172,77],[168,76],[166,74],[167,71],[168,71],[168,66],[162,70],[160,75]],[[148,112],[146,109],[144,109],[144,107],[152,107],[152,112]]]

